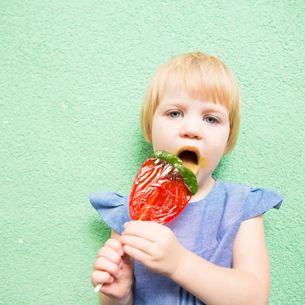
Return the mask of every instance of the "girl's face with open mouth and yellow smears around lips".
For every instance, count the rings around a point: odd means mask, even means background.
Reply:
[[[168,89],[154,113],[151,131],[154,151],[177,155],[196,174],[198,185],[220,162],[229,132],[225,106],[192,99],[185,90]]]

